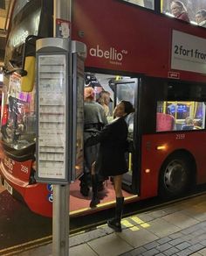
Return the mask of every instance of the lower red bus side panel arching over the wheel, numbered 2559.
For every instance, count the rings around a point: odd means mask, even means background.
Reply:
[[[203,136],[204,134],[204,136]],[[198,145],[201,145],[199,147]],[[163,146],[162,149],[157,149]],[[163,162],[176,151],[188,152],[196,160],[196,182],[206,182],[205,132],[171,132],[142,136],[141,144],[141,199],[157,196],[159,174]],[[147,173],[146,170],[150,172]]]

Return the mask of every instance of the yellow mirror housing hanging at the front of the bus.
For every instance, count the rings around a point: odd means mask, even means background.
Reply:
[[[31,92],[34,86],[35,77],[35,57],[27,56],[25,57],[24,70],[27,75],[21,78],[21,90],[24,92]]]

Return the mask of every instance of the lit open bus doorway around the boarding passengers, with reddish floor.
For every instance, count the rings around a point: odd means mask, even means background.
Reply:
[[[95,99],[98,102],[100,92],[101,91],[108,91],[110,93],[110,110],[111,115],[107,117],[108,123],[112,122],[113,120],[113,109],[117,103],[119,103],[121,100],[126,100],[131,102],[134,105],[134,109],[136,110],[136,92],[137,92],[137,79],[131,79],[129,77],[120,77],[116,75],[102,75],[102,74],[91,74],[86,73],[86,87],[93,87],[95,91]],[[127,116],[127,125],[128,125],[128,140],[129,140],[129,152],[127,152],[127,165],[128,165],[128,172],[123,177],[123,194],[126,198],[126,202],[130,201],[131,199],[137,198],[136,192],[137,192],[137,178],[136,178],[136,166],[135,166],[135,160],[134,157],[134,144],[136,141],[136,138],[134,139],[134,128],[136,124],[134,122],[136,121],[136,113],[131,114],[130,116]],[[82,196],[80,194],[80,188],[79,188],[79,181],[75,181],[71,185],[71,201],[75,205],[81,206],[79,210],[74,210],[72,214],[76,214],[79,212],[79,214],[90,211],[89,203],[91,201],[92,197],[92,188],[89,191],[88,196]],[[105,181],[104,183],[104,189],[99,192],[100,197],[100,204],[97,206],[97,210],[101,208],[106,208],[111,205],[113,206],[113,203],[115,203],[115,193],[113,191],[113,181],[112,179]],[[79,203],[78,203],[79,202]],[[72,205],[74,205],[72,203]],[[71,210],[72,210],[71,205]],[[84,208],[85,206],[85,208]],[[92,210],[92,209],[91,209]]]

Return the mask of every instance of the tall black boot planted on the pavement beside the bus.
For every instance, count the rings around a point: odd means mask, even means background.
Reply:
[[[121,232],[121,215],[124,206],[124,197],[116,197],[115,217],[107,221],[107,225],[115,232]]]

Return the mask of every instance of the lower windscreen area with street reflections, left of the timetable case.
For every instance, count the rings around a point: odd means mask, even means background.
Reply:
[[[12,75],[6,104],[3,105],[3,141],[14,149],[30,146],[36,138],[35,122],[34,92],[21,92],[19,77]]]

